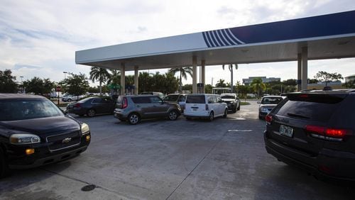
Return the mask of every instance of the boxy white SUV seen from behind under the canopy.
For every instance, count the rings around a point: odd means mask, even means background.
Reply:
[[[217,94],[188,94],[186,98],[184,116],[191,118],[208,118],[213,121],[215,117],[226,118],[228,107]]]

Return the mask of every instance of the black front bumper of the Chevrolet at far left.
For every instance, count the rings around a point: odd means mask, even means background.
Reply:
[[[87,140],[87,136],[89,136],[89,140]],[[9,168],[28,169],[68,160],[87,150],[90,138],[90,133],[82,135],[79,145],[62,148],[57,151],[50,151],[47,143],[21,146],[10,145],[7,148]],[[26,155],[26,149],[28,148],[33,148],[35,152],[31,155]]]

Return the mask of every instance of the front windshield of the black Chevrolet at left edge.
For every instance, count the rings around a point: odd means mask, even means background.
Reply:
[[[63,115],[57,106],[46,99],[1,100],[0,113],[0,121],[16,121]]]

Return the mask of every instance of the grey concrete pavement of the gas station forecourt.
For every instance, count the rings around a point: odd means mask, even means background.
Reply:
[[[87,151],[14,171],[0,180],[0,199],[354,199],[354,188],[268,155],[265,122],[250,102],[212,122],[75,116],[92,132]]]

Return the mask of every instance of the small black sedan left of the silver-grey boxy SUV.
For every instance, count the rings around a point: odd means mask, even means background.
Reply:
[[[93,117],[96,114],[114,113],[115,104],[115,101],[109,97],[89,97],[76,103],[67,104],[67,111],[78,116]]]

